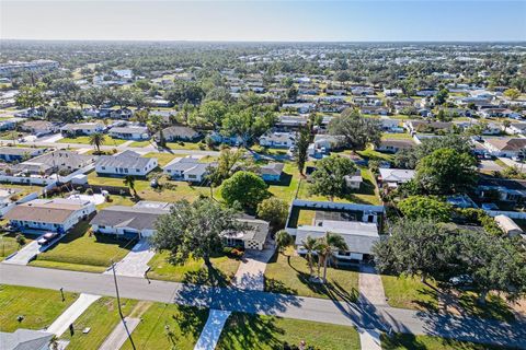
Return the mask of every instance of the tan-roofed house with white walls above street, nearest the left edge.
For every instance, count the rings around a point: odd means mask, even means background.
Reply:
[[[4,215],[19,230],[66,233],[95,211],[95,205],[80,199],[34,199],[18,205]]]

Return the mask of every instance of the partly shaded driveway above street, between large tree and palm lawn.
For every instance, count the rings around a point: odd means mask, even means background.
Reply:
[[[263,291],[265,288],[266,262],[275,249],[247,250],[232,279],[232,284],[243,290]]]

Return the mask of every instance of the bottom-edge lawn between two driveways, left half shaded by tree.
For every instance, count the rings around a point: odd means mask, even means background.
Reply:
[[[285,341],[290,346],[299,346],[301,340],[313,349],[361,348],[358,332],[353,327],[232,313],[222,329],[217,349],[283,349]]]

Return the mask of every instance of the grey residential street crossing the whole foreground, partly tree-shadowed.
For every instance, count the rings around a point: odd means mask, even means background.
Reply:
[[[16,265],[0,265],[0,283],[27,285],[99,295],[115,295],[110,275],[73,272]],[[185,305],[199,305],[224,311],[238,311],[339,325],[355,325],[409,334],[436,335],[458,340],[496,343],[526,349],[526,322],[506,324],[474,317],[453,317],[411,310],[354,304],[274,294],[190,285],[142,278],[119,277],[122,298]]]

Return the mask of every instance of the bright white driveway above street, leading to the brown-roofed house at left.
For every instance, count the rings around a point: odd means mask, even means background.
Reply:
[[[148,270],[148,261],[156,255],[150,249],[147,238],[142,238],[132,248],[132,250],[117,264],[115,264],[115,275],[129,277],[145,277]],[[104,273],[113,273],[110,268]]]

